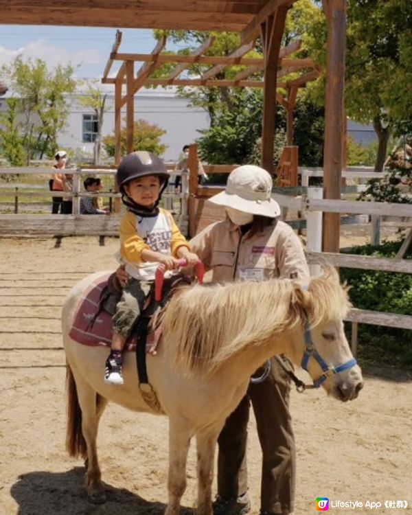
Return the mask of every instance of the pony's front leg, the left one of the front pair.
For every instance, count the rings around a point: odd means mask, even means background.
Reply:
[[[170,418],[168,507],[165,515],[179,515],[180,502],[186,488],[186,461],[193,431],[184,420]]]

